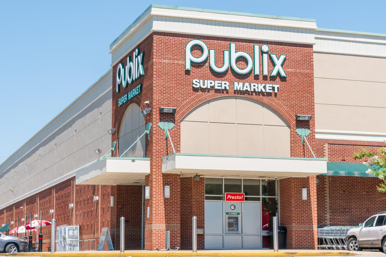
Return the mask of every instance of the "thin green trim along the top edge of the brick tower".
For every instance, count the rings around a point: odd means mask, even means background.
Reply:
[[[278,15],[267,15],[267,14],[256,14],[256,13],[247,13],[247,12],[232,12],[232,11],[221,11],[221,10],[212,10],[212,9],[203,9],[203,8],[193,8],[193,7],[182,7],[182,6],[173,6],[173,5],[155,5],[151,4],[149,7],[144,10],[135,20],[132,22],[129,27],[127,27],[111,44],[112,46],[117,40],[127,31],[130,27],[137,22],[151,7],[165,8],[165,9],[175,9],[175,10],[186,10],[186,11],[196,11],[196,12],[212,12],[212,13],[222,13],[222,14],[233,14],[233,15],[243,15],[251,17],[261,17],[261,18],[273,18],[281,20],[300,20],[305,22],[316,22],[316,19],[310,18],[297,18],[297,17],[287,17],[287,16],[278,16]]]

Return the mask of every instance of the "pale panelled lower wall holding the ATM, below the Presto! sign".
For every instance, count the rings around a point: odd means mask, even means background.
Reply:
[[[261,236],[261,202],[205,201],[205,249],[257,249]]]

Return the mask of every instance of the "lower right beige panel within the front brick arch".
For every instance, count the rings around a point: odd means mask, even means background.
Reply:
[[[289,127],[264,126],[264,156],[291,156]]]

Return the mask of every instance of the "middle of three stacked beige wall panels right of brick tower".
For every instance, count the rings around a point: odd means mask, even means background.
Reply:
[[[385,107],[386,83],[315,78],[315,103]],[[366,92],[377,92],[367,94]]]

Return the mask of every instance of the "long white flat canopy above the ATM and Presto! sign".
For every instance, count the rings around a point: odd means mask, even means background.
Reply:
[[[327,159],[173,153],[162,158],[162,172],[208,177],[307,177],[326,173]]]

